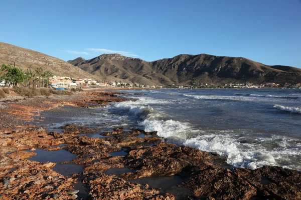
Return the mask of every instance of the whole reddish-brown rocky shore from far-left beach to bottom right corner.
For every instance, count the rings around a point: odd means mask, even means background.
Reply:
[[[301,199],[297,170],[233,168],[226,157],[166,143],[156,131],[135,127],[102,131],[65,124],[59,132],[38,125],[47,120],[41,113],[64,105],[77,109],[127,100],[116,94],[91,91],[3,102],[0,199]],[[43,152],[59,151],[74,157],[62,163],[47,156],[35,161]],[[80,170],[67,175],[67,166]]]

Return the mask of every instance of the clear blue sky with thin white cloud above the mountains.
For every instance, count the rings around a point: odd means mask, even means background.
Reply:
[[[0,0],[0,41],[63,60],[200,54],[301,68],[301,0]]]

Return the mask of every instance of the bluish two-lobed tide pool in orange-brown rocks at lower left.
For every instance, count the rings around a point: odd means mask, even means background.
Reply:
[[[39,162],[55,162],[57,164],[52,169],[64,176],[72,176],[74,173],[81,173],[83,171],[83,167],[79,164],[61,164],[61,162],[63,161],[73,160],[73,158],[76,156],[76,154],[72,154],[67,150],[59,149],[47,151],[42,149],[36,149],[34,152],[36,152],[37,155],[28,158],[29,160],[35,160]]]

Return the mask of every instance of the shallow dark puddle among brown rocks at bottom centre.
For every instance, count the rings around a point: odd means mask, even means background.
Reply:
[[[152,188],[160,188],[160,193],[165,194],[167,192],[175,195],[176,199],[185,199],[190,193],[190,190],[186,187],[178,187],[177,185],[184,180],[178,176],[164,176],[164,177],[145,177],[137,178],[134,180],[128,180],[129,182],[138,182],[140,184],[148,184]]]

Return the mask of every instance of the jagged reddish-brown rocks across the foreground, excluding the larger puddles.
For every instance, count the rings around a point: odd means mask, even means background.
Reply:
[[[10,134],[0,131],[0,139],[8,144],[2,146],[0,152],[3,199],[47,199],[55,198],[54,194],[58,195],[57,199],[74,198],[78,190],[72,185],[77,178],[89,188],[92,199],[175,199],[172,191],[163,195],[159,189],[134,182],[136,178],[171,175],[183,179],[174,190],[188,188],[186,199],[301,199],[300,171],[277,166],[254,170],[233,168],[225,157],[216,153],[161,143],[156,132],[122,127],[105,132],[106,137],[99,138],[47,132],[29,126],[24,130]],[[77,154],[68,162],[82,164],[81,174],[66,178],[51,169],[56,163],[26,159],[36,153],[24,149],[56,149],[53,145],[66,141],[74,143],[60,148]],[[125,167],[129,172],[102,173],[109,168]]]

